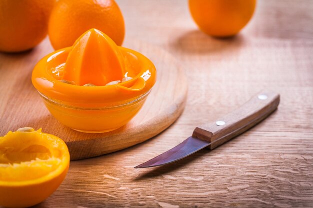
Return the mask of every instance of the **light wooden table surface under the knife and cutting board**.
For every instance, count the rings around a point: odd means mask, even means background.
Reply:
[[[252,20],[230,39],[200,32],[186,0],[117,2],[124,46],[137,38],[184,66],[186,107],[144,143],[71,162],[61,186],[36,207],[312,207],[313,2],[259,0]],[[133,168],[262,89],[280,93],[280,104],[248,132],[170,165]]]

